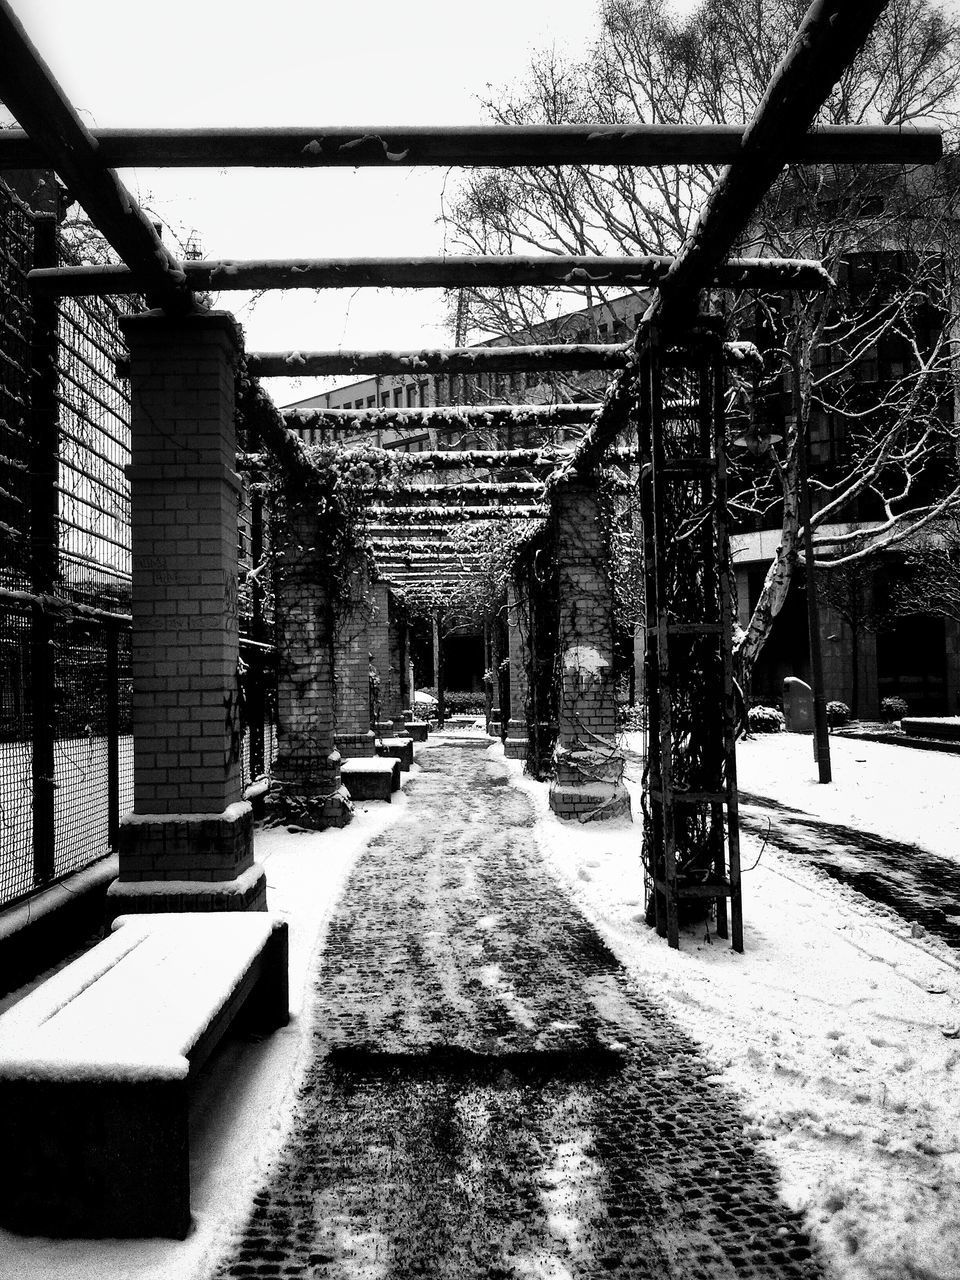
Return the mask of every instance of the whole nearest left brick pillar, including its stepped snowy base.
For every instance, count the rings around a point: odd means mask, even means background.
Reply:
[[[110,914],[266,908],[241,796],[233,319],[128,316],[133,813]]]

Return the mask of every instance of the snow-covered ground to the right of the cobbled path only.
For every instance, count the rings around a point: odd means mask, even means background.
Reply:
[[[810,739],[795,735],[748,742],[740,783],[951,850],[960,758],[831,745],[829,786],[815,781]],[[767,846],[760,856],[750,836],[745,954],[703,925],[671,951],[644,923],[639,824],[561,823],[545,788],[504,763],[539,806],[549,867],[739,1094],[785,1198],[805,1211],[837,1275],[960,1277],[960,956],[790,855]]]

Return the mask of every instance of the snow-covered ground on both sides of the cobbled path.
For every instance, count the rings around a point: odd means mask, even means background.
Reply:
[[[741,785],[950,851],[960,758],[832,745],[829,787],[815,782],[810,739],[791,735],[748,742]],[[960,1280],[960,956],[772,846],[753,865],[762,846],[749,836],[745,954],[707,941],[703,927],[671,951],[644,923],[639,826],[561,823],[545,786],[516,762],[503,767],[534,797],[548,867],[739,1094],[785,1197],[805,1210],[837,1276]],[[191,1236],[55,1242],[0,1233],[0,1280],[206,1280],[283,1140],[308,1046],[310,957],[357,855],[404,803],[401,794],[392,805],[360,806],[343,831],[257,835],[271,910],[291,924],[294,1018],[260,1044],[230,1044],[204,1084],[192,1112]]]

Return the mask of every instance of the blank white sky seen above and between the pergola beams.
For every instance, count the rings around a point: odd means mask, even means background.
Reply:
[[[521,79],[535,49],[579,52],[596,27],[595,0],[12,3],[84,122],[101,128],[479,124],[488,84]],[[196,232],[205,257],[248,259],[440,253],[443,195],[457,173],[143,169],[123,178],[174,233]],[[251,351],[449,344],[439,291],[296,291],[256,306],[227,293],[220,305],[238,315]],[[330,380],[268,385],[285,403]]]

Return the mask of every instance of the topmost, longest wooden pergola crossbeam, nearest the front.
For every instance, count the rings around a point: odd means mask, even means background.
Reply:
[[[369,168],[443,165],[728,164],[741,124],[525,124],[461,128],[95,129],[104,164],[125,168]],[[795,164],[937,160],[936,129],[833,125],[800,138]],[[0,133],[0,168],[35,169],[42,152],[19,131]]]

